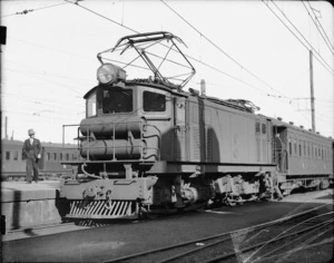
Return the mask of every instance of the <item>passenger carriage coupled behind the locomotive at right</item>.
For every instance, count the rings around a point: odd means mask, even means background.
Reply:
[[[281,186],[289,193],[293,188],[326,188],[333,177],[332,138],[272,119],[274,127],[274,162],[285,175]],[[276,145],[275,145],[276,143]]]

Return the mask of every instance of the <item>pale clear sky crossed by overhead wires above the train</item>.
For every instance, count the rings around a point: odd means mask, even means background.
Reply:
[[[187,45],[179,48],[196,75],[185,90],[204,79],[208,96],[250,100],[257,114],[306,129],[312,49],[316,130],[334,137],[334,10],[326,1],[4,0],[1,26],[2,138],[7,117],[9,138],[23,140],[33,128],[41,142],[61,143],[62,126],[85,118],[97,53],[150,31]],[[65,130],[72,143],[76,127]]]

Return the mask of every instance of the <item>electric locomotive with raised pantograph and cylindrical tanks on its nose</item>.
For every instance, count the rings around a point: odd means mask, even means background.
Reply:
[[[99,84],[85,95],[86,118],[78,127],[82,158],[66,162],[76,172],[60,184],[60,196],[70,203],[67,218],[137,217],[208,202],[234,205],[258,197],[258,175],[287,182],[283,140],[288,129],[256,115],[248,100],[183,90],[195,69],[177,42],[184,43],[169,32],[140,33],[98,53]],[[157,47],[167,50],[164,56],[151,52]],[[102,57],[130,49],[136,57],[122,67]],[[153,76],[128,80],[125,69],[138,58]],[[333,174],[331,162],[328,156],[325,176]],[[295,185],[287,183],[283,191]]]

